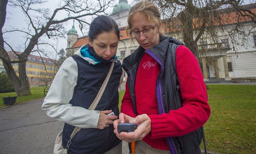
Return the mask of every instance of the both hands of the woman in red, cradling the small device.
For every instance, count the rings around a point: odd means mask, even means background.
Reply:
[[[126,142],[134,142],[138,140],[142,140],[150,131],[151,131],[151,120],[148,115],[142,114],[133,119],[132,122],[129,123],[139,123],[139,126],[134,130],[134,132],[117,132],[117,123],[126,122],[127,115],[120,114],[119,119],[114,121],[114,133],[117,135],[117,138],[126,141]],[[130,118],[128,118],[130,119]]]

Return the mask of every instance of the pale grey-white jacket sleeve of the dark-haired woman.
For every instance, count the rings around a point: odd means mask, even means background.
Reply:
[[[42,109],[48,117],[80,128],[97,128],[100,113],[80,106],[72,106],[77,83],[77,64],[72,57],[67,58],[58,70],[48,94],[43,101]]]

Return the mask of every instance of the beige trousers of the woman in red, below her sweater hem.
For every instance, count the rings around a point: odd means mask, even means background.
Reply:
[[[171,154],[171,151],[152,148],[149,144],[140,140],[135,143],[135,154]]]

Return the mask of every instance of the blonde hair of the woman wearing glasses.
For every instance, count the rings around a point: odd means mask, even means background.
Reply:
[[[139,12],[142,15],[146,15],[148,17],[148,21],[155,23],[158,29],[160,29],[159,25],[161,22],[161,14],[156,5],[149,1],[140,1],[132,6],[128,15],[128,26],[126,27],[126,33],[129,37],[132,37],[130,34],[132,29],[131,20],[136,12]]]

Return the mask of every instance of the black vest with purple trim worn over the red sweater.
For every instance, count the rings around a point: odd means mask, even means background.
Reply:
[[[179,45],[183,45],[182,42],[172,37],[161,37],[161,43],[153,48],[150,48],[148,52],[153,58],[157,58],[160,64],[161,80],[160,86],[156,86],[156,95],[158,102],[159,114],[170,110],[176,110],[182,106],[180,85],[178,76],[176,73],[176,48]],[[144,49],[139,46],[132,55],[123,59],[123,69],[128,74],[127,84],[130,90],[130,95],[133,100],[134,112],[136,113],[135,102],[135,79],[140,60],[144,53]],[[160,88],[159,88],[160,87]],[[161,91],[161,92],[159,92]],[[160,101],[164,102],[164,106]],[[179,137],[166,138],[170,151],[175,151],[174,154],[201,154],[200,143],[202,139],[201,129],[197,129],[192,133],[188,133]]]

